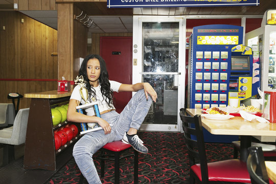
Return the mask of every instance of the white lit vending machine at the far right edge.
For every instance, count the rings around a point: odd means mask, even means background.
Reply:
[[[276,10],[267,10],[260,28],[245,34],[246,44],[253,49],[254,58],[260,60],[262,91],[276,90]]]

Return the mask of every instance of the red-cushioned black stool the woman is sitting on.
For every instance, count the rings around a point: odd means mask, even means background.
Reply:
[[[101,177],[104,177],[104,167],[105,160],[114,160],[114,173],[115,180],[114,183],[119,184],[120,180],[120,159],[134,156],[134,183],[138,183],[138,162],[139,162],[139,152],[133,149],[134,153],[128,155],[122,155],[127,150],[132,147],[129,144],[125,144],[122,141],[113,141],[111,143],[107,143],[104,145],[99,151],[101,151],[101,155],[95,157],[96,159],[101,159]],[[111,154],[111,155],[110,155]],[[82,183],[83,175],[81,174],[80,183]]]

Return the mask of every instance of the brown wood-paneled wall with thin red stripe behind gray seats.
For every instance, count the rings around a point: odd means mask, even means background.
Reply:
[[[0,103],[12,103],[9,93],[57,89],[57,81],[45,81],[57,80],[57,31],[17,11],[0,11],[0,28]],[[20,99],[19,108],[30,101]]]

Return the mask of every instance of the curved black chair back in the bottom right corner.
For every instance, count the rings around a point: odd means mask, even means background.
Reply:
[[[265,167],[265,160],[262,147],[249,147],[247,158],[247,170],[252,184],[268,184],[269,179]]]

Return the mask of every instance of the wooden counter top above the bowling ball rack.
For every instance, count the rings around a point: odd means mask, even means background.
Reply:
[[[72,90],[71,91],[57,91],[57,90],[52,90],[52,91],[44,91],[40,93],[28,93],[24,94],[25,98],[47,98],[47,99],[54,99],[54,98],[62,98],[62,97],[68,97],[71,96]]]

